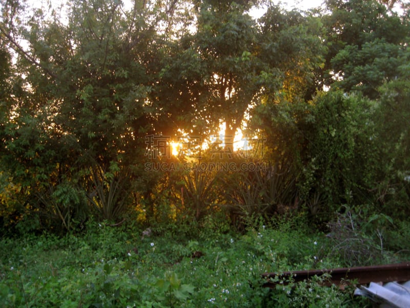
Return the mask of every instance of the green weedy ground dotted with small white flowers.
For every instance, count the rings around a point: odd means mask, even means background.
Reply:
[[[261,287],[260,274],[346,266],[324,234],[290,223],[244,234],[90,223],[63,238],[0,241],[0,303],[10,307],[363,307],[352,288],[320,281]]]

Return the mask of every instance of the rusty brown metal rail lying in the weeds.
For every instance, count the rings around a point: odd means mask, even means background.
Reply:
[[[299,282],[308,280],[317,275],[329,274],[330,279],[325,280],[324,285],[336,284],[343,286],[347,283],[346,280],[356,280],[358,284],[367,284],[370,282],[403,282],[410,280],[410,262],[377,265],[377,266],[360,266],[360,267],[345,267],[332,269],[311,269],[308,271],[290,271],[283,273],[264,273],[262,277],[267,280],[263,284],[265,287],[274,288],[279,282],[273,281],[274,278],[279,278],[280,283],[287,284],[289,281]],[[278,280],[278,279],[276,279]]]

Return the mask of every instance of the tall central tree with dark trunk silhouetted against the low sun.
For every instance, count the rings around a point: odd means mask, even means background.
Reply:
[[[226,136],[233,136],[260,89],[256,23],[247,13],[252,3],[194,5],[196,32],[181,37],[173,49],[172,63],[160,75],[160,100],[172,101],[174,123],[185,132],[209,136],[222,121]],[[227,138],[226,146],[232,143]]]

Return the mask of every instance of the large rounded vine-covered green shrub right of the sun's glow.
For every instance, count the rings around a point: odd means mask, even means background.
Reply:
[[[288,162],[300,208],[328,221],[338,204],[371,203],[378,144],[377,104],[340,91],[320,93],[311,103],[279,102],[257,108],[255,122],[267,136],[275,163]]]

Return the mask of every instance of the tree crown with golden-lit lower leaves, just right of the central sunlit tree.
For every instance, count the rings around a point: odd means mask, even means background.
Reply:
[[[320,18],[310,12],[286,11],[271,5],[259,22],[260,57],[265,68],[279,72],[274,77],[281,98],[291,102],[311,100],[323,88],[316,76],[324,66],[327,51],[322,44],[325,32]],[[278,102],[281,98],[273,90],[268,100]]]

